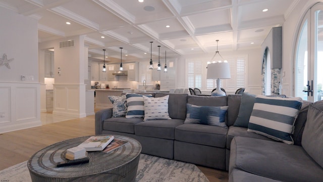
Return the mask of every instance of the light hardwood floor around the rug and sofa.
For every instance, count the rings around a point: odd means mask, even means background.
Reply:
[[[0,134],[0,170],[28,160],[40,149],[79,136],[94,135],[94,115],[67,118],[42,113],[42,126]],[[55,119],[56,118],[56,119]],[[228,172],[198,166],[210,182],[228,181]]]

